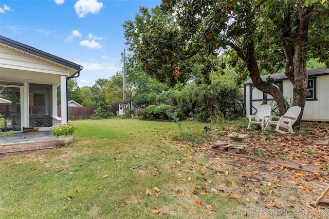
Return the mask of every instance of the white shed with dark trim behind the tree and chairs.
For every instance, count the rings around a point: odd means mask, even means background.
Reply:
[[[307,97],[302,121],[326,121],[329,122],[329,69],[326,67],[317,67],[307,69],[308,84]],[[268,75],[262,75],[262,79]],[[293,103],[293,84],[288,80],[284,73],[270,75],[275,79],[276,86],[279,87],[283,96],[291,106]],[[273,97],[263,93],[253,87],[251,79],[244,83],[244,103],[246,115],[252,115],[257,112],[261,104],[270,104],[273,107]],[[275,102],[274,102],[275,103]]]

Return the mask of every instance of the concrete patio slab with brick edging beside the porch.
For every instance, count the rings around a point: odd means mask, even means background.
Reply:
[[[57,139],[51,131],[14,133],[0,139],[0,154],[56,148]]]

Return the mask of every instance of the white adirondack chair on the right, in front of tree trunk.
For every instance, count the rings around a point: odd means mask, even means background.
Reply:
[[[299,106],[290,107],[283,116],[271,115],[268,119],[266,130],[271,130],[270,126],[276,126],[275,131],[285,134],[287,132],[294,133],[293,125],[297,121],[297,118],[300,114],[301,108]],[[279,118],[279,121],[273,121],[273,118]],[[288,131],[282,131],[281,128],[284,128]]]

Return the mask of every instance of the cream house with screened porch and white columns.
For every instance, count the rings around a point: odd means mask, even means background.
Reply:
[[[50,130],[67,122],[67,81],[80,75],[81,65],[0,35],[0,91],[11,103],[1,103],[7,130],[23,127]],[[60,86],[62,117],[57,114]]]

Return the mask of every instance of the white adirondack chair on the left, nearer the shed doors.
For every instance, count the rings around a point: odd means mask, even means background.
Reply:
[[[249,124],[247,129],[253,130],[253,128],[251,128],[251,125],[261,125],[263,130],[270,115],[271,106],[267,104],[261,105],[255,115],[248,115]]]

